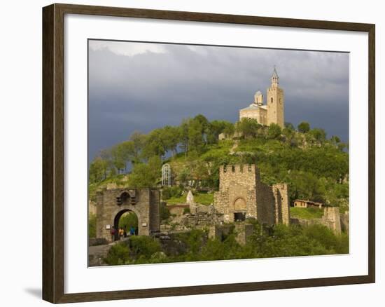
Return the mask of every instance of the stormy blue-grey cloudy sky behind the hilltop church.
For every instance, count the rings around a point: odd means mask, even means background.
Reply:
[[[89,158],[134,130],[203,114],[235,123],[276,65],[285,121],[349,139],[349,54],[89,41]],[[265,98],[265,97],[264,97]]]

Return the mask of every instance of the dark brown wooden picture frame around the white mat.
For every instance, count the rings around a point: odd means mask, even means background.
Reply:
[[[369,72],[368,275],[64,294],[64,14],[367,32],[369,36],[369,62],[367,63]],[[363,23],[69,4],[52,4],[43,8],[43,299],[52,303],[69,303],[375,282],[374,40],[375,26]]]

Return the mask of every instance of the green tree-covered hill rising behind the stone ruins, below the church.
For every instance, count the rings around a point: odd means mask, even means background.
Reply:
[[[218,141],[221,133],[226,139]],[[117,174],[127,163],[133,166],[123,180]],[[175,203],[190,185],[208,191],[207,195],[217,190],[220,165],[254,163],[262,182],[288,183],[291,201],[303,198],[339,206],[342,212],[348,209],[349,154],[338,137],[328,139],[324,130],[311,129],[307,123],[297,130],[291,124],[281,129],[248,119],[237,124],[209,122],[202,115],[148,135],[134,132],[129,140],[102,151],[90,165],[90,195],[104,189],[106,182],[159,186],[162,163],[171,165],[173,181],[179,186],[171,196]]]

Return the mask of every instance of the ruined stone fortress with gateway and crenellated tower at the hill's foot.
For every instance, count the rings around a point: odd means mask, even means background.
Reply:
[[[246,219],[260,224],[323,224],[335,233],[349,231],[349,214],[339,214],[338,207],[325,207],[321,219],[290,219],[287,184],[268,186],[260,180],[255,165],[223,165],[219,170],[219,191],[214,193],[214,204],[195,203],[193,192],[188,191],[186,203],[170,206],[173,218],[169,225],[161,225],[160,191],[158,189],[107,189],[97,193],[97,238],[111,242],[111,227],[118,228],[120,216],[127,211],[138,217],[141,236],[170,231],[188,231],[206,228],[209,238],[222,237],[229,223],[235,223],[237,240],[246,242],[251,225]],[[188,209],[188,210],[186,210]]]

